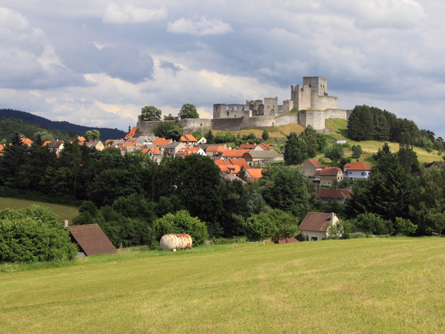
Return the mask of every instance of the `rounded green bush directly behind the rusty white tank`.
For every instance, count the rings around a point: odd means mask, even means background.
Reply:
[[[157,248],[164,234],[186,233],[190,235],[193,245],[203,245],[208,237],[207,226],[197,217],[192,217],[187,210],[175,214],[165,214],[154,221],[154,239],[149,242],[150,248]]]

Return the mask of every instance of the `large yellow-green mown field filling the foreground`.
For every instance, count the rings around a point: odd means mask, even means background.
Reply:
[[[444,333],[444,263],[439,237],[91,257],[0,273],[0,333]]]

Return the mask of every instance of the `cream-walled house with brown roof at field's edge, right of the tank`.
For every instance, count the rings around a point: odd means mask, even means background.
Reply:
[[[308,212],[300,223],[301,235],[304,235],[307,240],[311,241],[329,237],[326,229],[330,223],[333,225],[339,223],[339,218],[334,212],[327,214],[322,212]]]

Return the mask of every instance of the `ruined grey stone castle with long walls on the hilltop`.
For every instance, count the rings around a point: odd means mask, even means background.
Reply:
[[[184,132],[199,129],[236,131],[245,127],[272,127],[298,123],[303,127],[311,125],[317,131],[325,129],[328,118],[347,120],[350,110],[338,109],[338,97],[327,95],[327,79],[303,77],[302,86],[291,86],[291,99],[278,104],[278,97],[264,97],[263,100],[247,100],[245,104],[213,104],[213,119],[184,119],[175,122]],[[289,113],[293,109],[298,113]],[[165,122],[165,121],[164,121]],[[138,118],[136,134],[153,134],[160,122],[146,122]]]

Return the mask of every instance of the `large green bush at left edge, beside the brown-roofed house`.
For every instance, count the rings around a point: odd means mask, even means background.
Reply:
[[[77,247],[49,209],[0,212],[0,263],[72,260]]]

